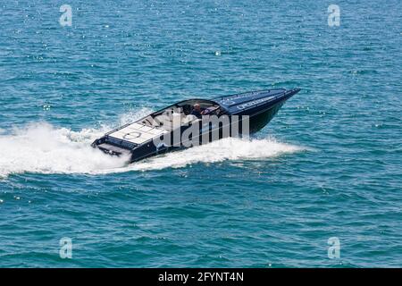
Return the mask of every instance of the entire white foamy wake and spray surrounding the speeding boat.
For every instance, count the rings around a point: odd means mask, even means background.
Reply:
[[[149,114],[149,109],[122,114],[119,124]],[[117,124],[116,124],[117,126]],[[105,174],[180,168],[225,160],[264,159],[302,150],[274,139],[222,139],[178,152],[127,164],[128,157],[107,156],[90,144],[115,126],[73,131],[46,122],[30,123],[7,134],[0,130],[0,177],[13,173]]]

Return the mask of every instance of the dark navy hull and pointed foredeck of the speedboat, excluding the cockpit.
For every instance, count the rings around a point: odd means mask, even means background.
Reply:
[[[154,139],[148,139],[142,144],[130,142],[130,139],[126,139],[126,136],[130,138],[133,133],[139,133],[138,130],[142,130],[143,127],[139,127],[140,129],[135,131],[127,131],[128,133],[120,138],[113,135],[119,132],[124,133],[125,131],[123,130],[130,128],[130,124],[128,124],[120,129],[107,133],[101,139],[96,139],[92,146],[101,149],[109,155],[129,156],[130,163],[133,163],[150,156],[210,143],[217,139],[248,136],[263,129],[266,124],[271,122],[275,114],[281,109],[281,106],[290,97],[297,94],[299,90],[298,88],[290,90],[272,89],[218,97],[210,102],[214,105],[219,105],[222,109],[219,122],[205,122],[203,118],[202,121],[197,122],[197,125],[196,123],[181,125],[180,128],[172,130],[171,132],[156,134]],[[192,100],[192,102],[197,101],[198,99]],[[199,99],[199,101],[203,101],[203,99]],[[206,102],[206,100],[204,101]],[[180,102],[176,105],[182,103],[183,102]],[[160,114],[160,112],[156,112],[155,114]],[[145,118],[142,120],[144,119]],[[141,120],[132,124],[138,125],[140,123]],[[159,139],[160,141],[164,136],[170,136],[170,139],[164,140],[163,144],[155,143],[155,139]],[[178,137],[180,138],[179,142],[174,140]]]

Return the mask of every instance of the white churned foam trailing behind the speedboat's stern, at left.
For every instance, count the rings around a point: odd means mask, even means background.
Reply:
[[[127,158],[105,156],[90,147],[101,130],[75,132],[33,123],[0,136],[0,176],[12,173],[93,173],[121,167]]]

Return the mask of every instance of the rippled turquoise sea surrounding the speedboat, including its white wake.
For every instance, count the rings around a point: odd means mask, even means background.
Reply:
[[[0,266],[402,266],[401,9],[2,2]],[[302,91],[251,141],[132,165],[89,147],[182,99],[280,87]]]

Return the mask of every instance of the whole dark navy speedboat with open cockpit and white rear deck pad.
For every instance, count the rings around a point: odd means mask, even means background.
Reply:
[[[227,137],[247,137],[270,122],[300,88],[266,89],[213,99],[187,99],[106,133],[92,143],[130,163]]]

